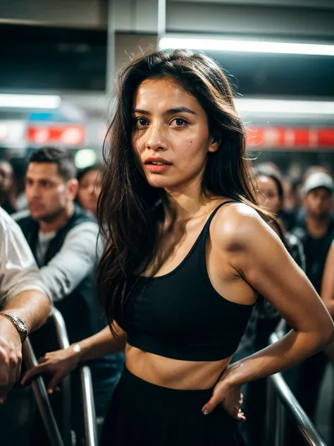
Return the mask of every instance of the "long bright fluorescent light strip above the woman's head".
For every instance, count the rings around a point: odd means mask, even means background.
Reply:
[[[161,49],[202,49],[206,51],[309,54],[314,56],[334,56],[334,45],[261,42],[259,40],[192,39],[183,37],[163,37],[159,42]]]

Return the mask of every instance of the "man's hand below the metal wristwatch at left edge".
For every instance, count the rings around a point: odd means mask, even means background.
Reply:
[[[18,331],[6,318],[0,318],[0,403],[20,378],[22,343]]]

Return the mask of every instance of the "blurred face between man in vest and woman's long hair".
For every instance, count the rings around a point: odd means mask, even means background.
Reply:
[[[101,173],[98,170],[88,171],[79,182],[78,201],[84,209],[94,215],[97,213],[97,199],[101,193],[101,182]]]

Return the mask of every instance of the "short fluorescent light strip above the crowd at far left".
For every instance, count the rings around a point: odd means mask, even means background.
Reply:
[[[61,104],[61,97],[55,95],[2,95],[0,107],[28,108],[28,109],[57,109]]]

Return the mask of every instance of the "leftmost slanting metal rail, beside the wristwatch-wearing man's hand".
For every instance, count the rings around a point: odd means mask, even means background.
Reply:
[[[30,344],[29,338],[25,339],[25,343],[22,347],[23,359],[27,369],[37,366],[37,359]],[[35,394],[35,399],[41,414],[45,429],[51,441],[52,446],[63,446],[63,440],[59,432],[56,419],[54,418],[54,412],[51,409],[49,397],[47,395],[47,389],[45,388],[43,378],[39,376],[32,381],[32,390]]]

